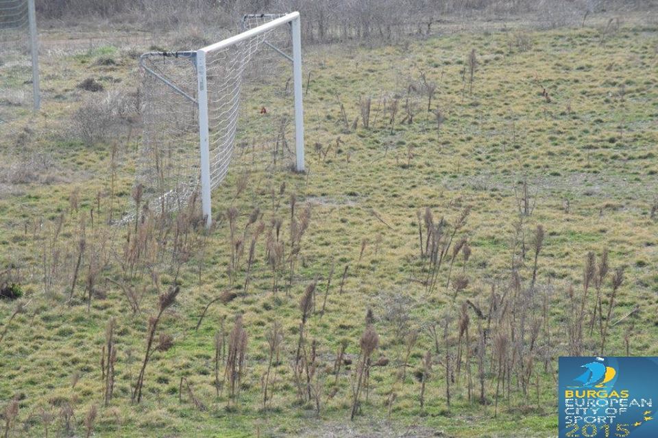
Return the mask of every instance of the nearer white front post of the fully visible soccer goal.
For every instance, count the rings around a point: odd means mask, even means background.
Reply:
[[[201,206],[206,228],[212,224],[210,205],[210,133],[208,131],[208,83],[206,52],[197,51],[197,103],[199,105],[199,151],[201,154]]]

